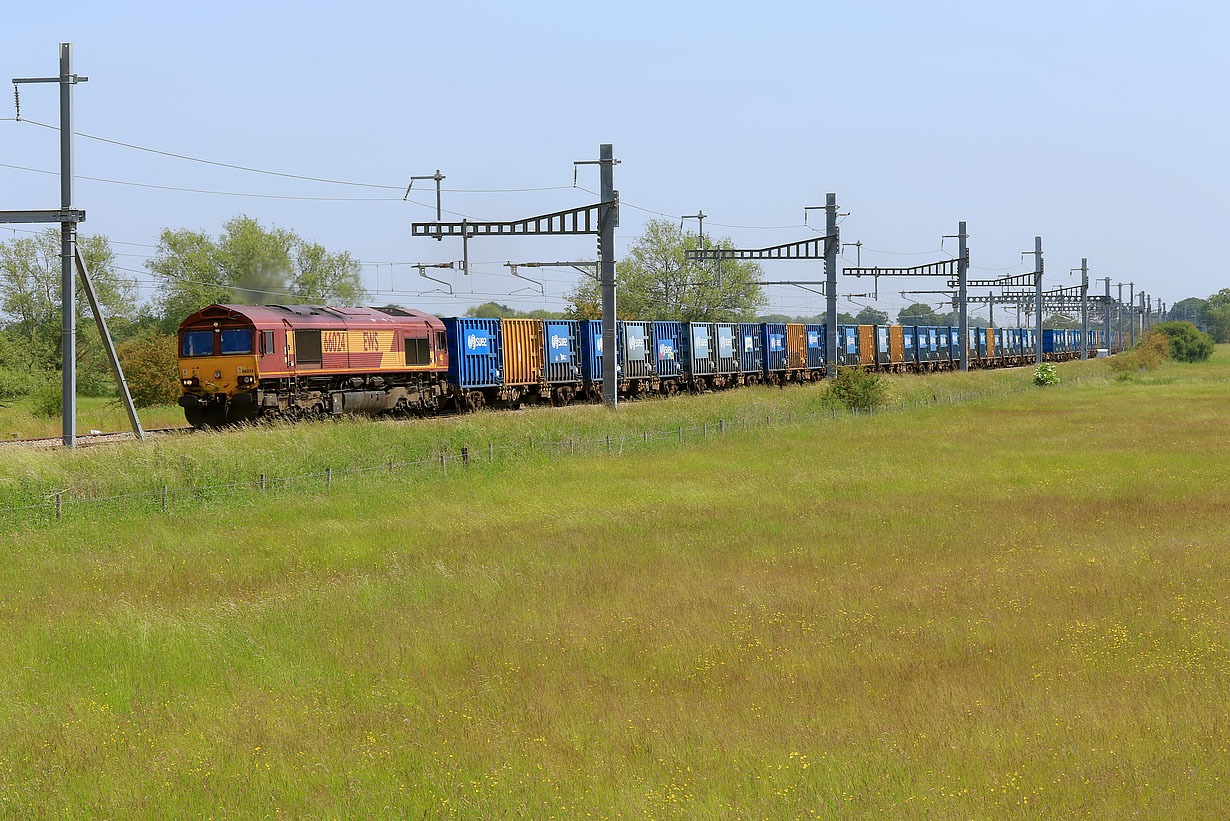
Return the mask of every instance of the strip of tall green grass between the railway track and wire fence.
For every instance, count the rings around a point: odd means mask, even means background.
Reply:
[[[893,404],[946,400],[969,393],[1030,388],[1031,368],[980,370],[968,374],[887,377]],[[1105,362],[1071,362],[1060,366],[1069,382],[1108,379]],[[173,435],[139,442],[59,449],[9,447],[0,460],[0,508],[44,505],[49,494],[65,499],[91,499],[132,492],[150,494],[165,484],[170,489],[197,489],[268,478],[323,474],[371,465],[432,459],[442,452],[467,447],[478,454],[488,446],[503,448],[507,459],[529,443],[598,441],[611,436],[636,437],[662,433],[678,426],[758,423],[769,416],[809,415],[827,411],[819,385],[755,388],[670,400],[626,402],[613,415],[594,405],[567,409],[540,407],[520,412],[485,411],[440,420],[331,420],[315,423],[263,426],[255,430]],[[177,410],[177,409],[176,409]],[[82,428],[85,430],[85,428]],[[212,494],[196,494],[212,497]],[[175,494],[172,494],[175,496]],[[229,494],[228,494],[229,497]],[[187,500],[178,494],[178,500]],[[127,502],[125,502],[127,505]],[[0,526],[4,518],[0,515]]]

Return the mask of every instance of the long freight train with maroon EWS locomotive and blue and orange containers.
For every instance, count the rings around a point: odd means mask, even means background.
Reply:
[[[969,366],[1033,362],[1034,334],[970,327]],[[956,327],[621,320],[620,396],[815,382],[829,367],[956,368]],[[1090,331],[1090,348],[1124,340]],[[180,405],[194,427],[337,415],[598,401],[603,324],[565,319],[439,319],[401,308],[209,305],[178,334]],[[1049,361],[1080,356],[1080,331],[1044,330]]]

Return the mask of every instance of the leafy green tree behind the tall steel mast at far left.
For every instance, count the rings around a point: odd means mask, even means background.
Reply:
[[[140,311],[137,279],[119,271],[106,236],[80,236],[77,246],[95,295],[108,324],[130,327]],[[101,338],[76,282],[77,380],[84,393],[97,393],[109,378]],[[34,236],[0,242],[0,316],[5,320],[5,367],[50,377],[62,364],[60,231],[52,228]]]

